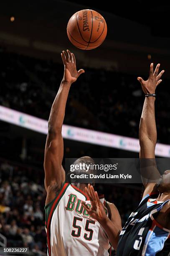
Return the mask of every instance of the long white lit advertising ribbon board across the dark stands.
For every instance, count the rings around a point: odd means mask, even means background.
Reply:
[[[48,132],[47,120],[36,118],[34,116],[27,115],[3,106],[0,106],[0,120],[39,133],[47,134]],[[62,135],[63,138],[73,141],[81,141],[133,152],[139,152],[140,150],[139,140],[136,138],[129,138],[111,133],[103,133],[100,131],[79,128],[71,125],[63,125]],[[170,157],[170,145],[157,143],[155,154],[156,156]]]

